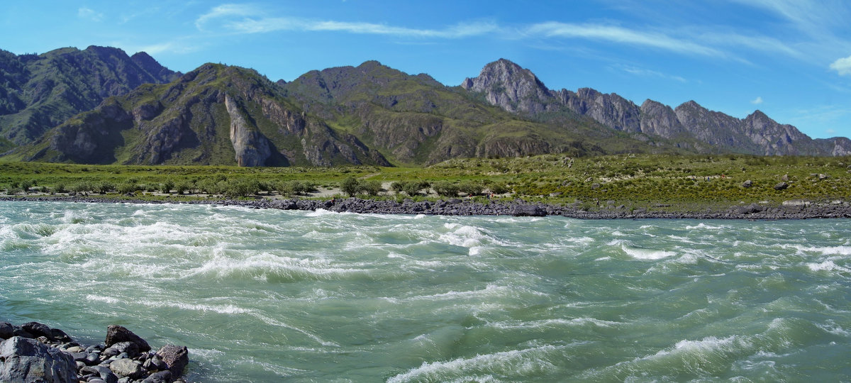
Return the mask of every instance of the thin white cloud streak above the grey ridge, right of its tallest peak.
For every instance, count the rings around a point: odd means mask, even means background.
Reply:
[[[683,54],[726,56],[722,51],[693,41],[671,37],[662,32],[637,31],[621,26],[600,24],[568,24],[556,21],[535,24],[526,29],[527,34],[545,37],[586,38],[625,43],[656,49],[665,49]]]

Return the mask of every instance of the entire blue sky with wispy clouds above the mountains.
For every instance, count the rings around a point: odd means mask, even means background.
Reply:
[[[551,89],[641,105],[762,110],[814,138],[851,136],[851,2],[4,2],[0,49],[106,45],[164,66],[247,66],[271,80],[379,60],[447,85],[505,58]]]

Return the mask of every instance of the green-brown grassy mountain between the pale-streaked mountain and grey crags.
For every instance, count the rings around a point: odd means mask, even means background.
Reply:
[[[306,111],[405,165],[454,157],[655,150],[591,118],[573,114],[554,123],[524,118],[488,105],[479,94],[377,61],[310,71],[283,89]]]

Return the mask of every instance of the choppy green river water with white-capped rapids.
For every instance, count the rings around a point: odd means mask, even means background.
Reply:
[[[0,203],[0,320],[193,381],[848,380],[849,229]]]

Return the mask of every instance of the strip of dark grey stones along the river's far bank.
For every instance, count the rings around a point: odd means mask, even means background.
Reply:
[[[361,214],[430,214],[430,215],[513,215],[546,216],[560,215],[588,220],[605,219],[695,219],[695,220],[803,220],[811,218],[851,218],[851,203],[834,201],[813,203],[788,201],[779,206],[759,203],[718,207],[706,211],[671,211],[670,207],[659,206],[660,210],[626,209],[623,205],[606,204],[601,209],[586,210],[578,204],[551,205],[514,200],[510,203],[492,201],[476,203],[467,199],[450,198],[437,202],[414,202],[404,200],[346,199],[271,199],[254,200],[197,199],[197,200],[146,200],[133,197],[80,197],[39,196],[0,197],[0,201],[66,201],[77,203],[191,203],[223,206],[245,206],[254,209],[310,210],[325,209],[334,212]]]

